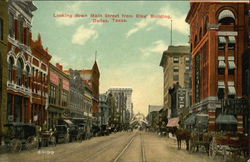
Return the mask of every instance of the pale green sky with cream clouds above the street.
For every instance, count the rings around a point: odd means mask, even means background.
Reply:
[[[148,105],[163,105],[162,52],[170,44],[170,19],[136,18],[169,15],[173,20],[173,45],[187,45],[185,18],[189,2],[172,1],[35,1],[33,39],[41,33],[52,63],[65,69],[90,69],[97,51],[101,73],[100,93],[111,87],[133,89],[134,112],[147,114]],[[86,14],[85,18],[54,17],[54,14]],[[92,23],[90,14],[132,15],[127,22]],[[99,19],[99,18],[97,18]]]

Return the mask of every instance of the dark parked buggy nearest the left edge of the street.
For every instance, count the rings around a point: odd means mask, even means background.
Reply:
[[[20,152],[23,149],[38,148],[39,140],[34,124],[10,123],[4,125],[7,134],[4,142],[10,152]]]

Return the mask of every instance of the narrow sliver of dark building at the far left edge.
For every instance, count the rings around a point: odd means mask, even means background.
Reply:
[[[8,2],[0,1],[0,143],[1,134],[3,132],[3,125],[7,117],[7,78],[8,78],[8,64],[7,64],[7,45],[9,33],[9,16],[8,16]]]

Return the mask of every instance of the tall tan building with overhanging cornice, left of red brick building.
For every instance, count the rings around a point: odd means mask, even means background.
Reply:
[[[184,87],[186,82],[184,74],[190,69],[190,64],[189,46],[169,46],[163,52],[160,66],[163,67],[164,73],[163,107],[165,110],[169,110],[171,107],[169,88],[177,82],[181,87]],[[170,116],[170,113],[168,113],[168,116]]]

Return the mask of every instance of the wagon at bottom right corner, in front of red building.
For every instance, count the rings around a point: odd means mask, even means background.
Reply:
[[[223,161],[228,159],[228,156],[236,159],[239,156],[248,156],[249,136],[241,134],[226,134],[215,136],[209,145],[209,156],[214,159],[217,154],[223,156]]]

